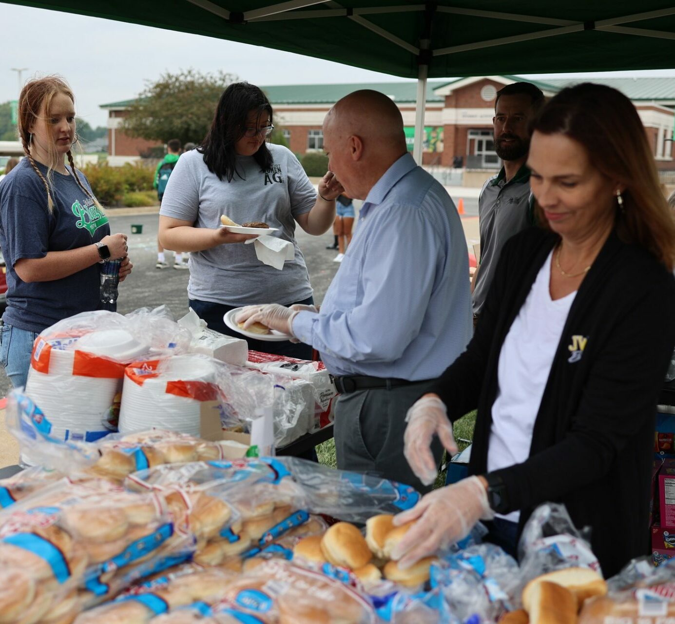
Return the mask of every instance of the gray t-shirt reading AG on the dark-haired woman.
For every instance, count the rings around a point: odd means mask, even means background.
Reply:
[[[289,305],[312,296],[309,275],[295,240],[294,220],[309,212],[317,192],[293,153],[281,145],[268,145],[273,165],[261,171],[252,156],[237,157],[232,182],[209,172],[204,155],[196,149],[176,163],[164,192],[159,213],[194,223],[196,228],[217,228],[220,216],[236,223],[263,221],[270,232],[295,247],[293,260],[279,271],[263,264],[254,244],[222,244],[190,254],[190,299],[229,306],[281,303]]]

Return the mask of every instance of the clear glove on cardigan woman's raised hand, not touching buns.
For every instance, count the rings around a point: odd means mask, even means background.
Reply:
[[[406,423],[403,454],[418,479],[425,486],[430,486],[438,474],[438,466],[431,452],[434,434],[439,437],[450,457],[458,450],[445,404],[435,394],[425,394],[408,410]]]

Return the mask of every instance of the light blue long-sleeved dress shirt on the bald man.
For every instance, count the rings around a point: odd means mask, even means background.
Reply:
[[[437,378],[472,334],[468,253],[454,203],[410,154],[371,188],[317,313],[294,334],[333,375]]]

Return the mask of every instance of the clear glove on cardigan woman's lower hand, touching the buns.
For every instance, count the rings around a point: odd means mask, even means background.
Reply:
[[[394,525],[415,521],[391,553],[398,567],[406,569],[421,558],[465,538],[479,520],[490,520],[493,511],[479,477],[425,494],[412,509],[394,517]]]

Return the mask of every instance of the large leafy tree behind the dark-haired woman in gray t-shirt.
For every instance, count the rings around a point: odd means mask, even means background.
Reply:
[[[178,138],[184,145],[201,142],[225,87],[238,80],[234,74],[200,74],[196,70],[166,72],[146,88],[131,105],[124,132],[163,143]]]

